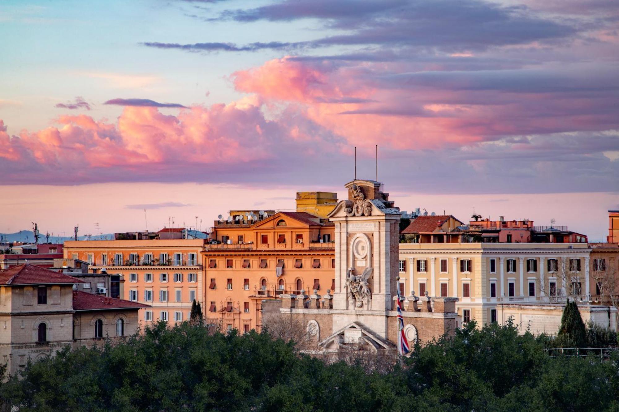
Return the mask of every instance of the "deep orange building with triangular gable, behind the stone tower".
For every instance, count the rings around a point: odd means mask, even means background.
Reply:
[[[241,332],[261,327],[264,299],[334,289],[333,223],[306,212],[251,216],[215,221],[202,252],[204,315]]]

